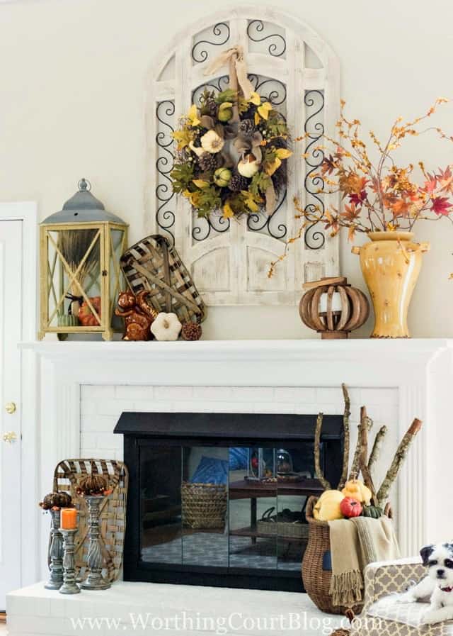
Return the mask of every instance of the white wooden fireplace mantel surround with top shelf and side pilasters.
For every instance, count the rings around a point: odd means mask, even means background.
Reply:
[[[339,389],[345,382],[398,391],[398,437],[413,418],[423,420],[398,482],[403,552],[417,552],[425,540],[451,535],[446,502],[453,448],[453,340],[42,341],[21,347],[40,359],[39,451],[29,446],[24,457],[36,462],[39,493],[49,489],[57,462],[79,457],[84,385]],[[273,404],[272,412],[277,409]]]

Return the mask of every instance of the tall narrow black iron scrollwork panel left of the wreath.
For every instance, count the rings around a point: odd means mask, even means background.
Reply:
[[[175,114],[174,101],[167,99],[159,101],[156,106],[156,119],[158,131],[156,133],[157,144],[157,184],[156,184],[156,223],[160,230],[165,230],[174,243],[172,232],[175,225],[175,211],[170,201],[175,193],[171,185],[170,173],[173,170],[175,155],[173,154],[173,126],[171,121]]]

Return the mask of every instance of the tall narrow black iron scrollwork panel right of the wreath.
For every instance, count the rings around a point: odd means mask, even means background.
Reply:
[[[306,91],[304,104],[307,112],[304,130],[308,135],[305,147],[307,169],[304,179],[308,203],[306,203],[305,211],[311,213],[316,213],[316,211],[324,212],[324,201],[321,194],[324,189],[324,179],[319,174],[312,176],[324,159],[324,152],[319,147],[319,140],[321,140],[324,133],[322,116],[320,116],[324,108],[323,91]],[[317,226],[318,223],[311,223],[306,227],[304,242],[309,250],[320,250],[326,243],[326,235]]]

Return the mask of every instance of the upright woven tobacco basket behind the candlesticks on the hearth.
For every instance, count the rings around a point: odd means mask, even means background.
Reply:
[[[83,581],[88,576],[88,508],[76,487],[87,474],[102,474],[113,492],[101,504],[101,552],[105,559],[103,576],[113,582],[120,576],[122,552],[126,530],[127,467],[114,459],[65,459],[59,462],[54,472],[54,492],[67,492],[79,511],[79,528],[76,533],[76,576]]]

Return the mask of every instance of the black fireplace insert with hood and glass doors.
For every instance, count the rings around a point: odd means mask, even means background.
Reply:
[[[304,591],[316,415],[122,413],[130,474],[125,581]],[[338,483],[343,417],[324,415]]]

